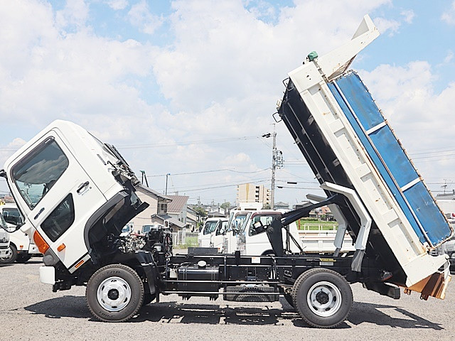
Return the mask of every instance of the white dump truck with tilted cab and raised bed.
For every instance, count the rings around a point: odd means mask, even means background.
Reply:
[[[173,254],[171,230],[160,226],[146,234],[141,249],[128,247],[119,237],[122,227],[148,205],[135,194],[139,180],[132,168],[117,148],[77,124],[51,123],[0,171],[25,217],[17,228],[44,255],[41,282],[53,291],[86,286],[90,312],[106,322],[129,320],[142,305],[170,294],[240,302],[284,296],[317,328],[346,320],[351,283],[388,298],[400,298],[400,288],[424,300],[444,298],[449,261],[430,251],[453,231],[370,92],[348,70],[378,34],[365,16],[352,40],[321,57],[310,53],[284,82],[275,117],[284,121],[326,197],[313,195],[312,205],[255,222],[254,232],[267,234],[271,254],[210,248]],[[325,205],[339,224],[336,251],[291,251],[284,227]],[[355,242],[348,256],[340,254],[346,231]]]

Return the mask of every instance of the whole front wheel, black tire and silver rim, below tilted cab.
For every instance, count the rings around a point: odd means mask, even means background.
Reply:
[[[105,322],[132,318],[144,301],[144,283],[129,266],[107,265],[90,277],[85,290],[90,313]]]

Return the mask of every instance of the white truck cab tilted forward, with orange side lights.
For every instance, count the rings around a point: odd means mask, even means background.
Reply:
[[[117,149],[69,121],[43,129],[0,175],[26,220],[21,231],[44,254],[50,279],[58,264],[70,274],[89,260],[97,264],[104,245],[114,243],[109,236],[148,207],[134,193],[139,181]]]

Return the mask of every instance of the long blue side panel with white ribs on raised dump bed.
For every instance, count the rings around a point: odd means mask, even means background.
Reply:
[[[328,87],[420,241],[436,245],[448,238],[449,224],[360,77],[349,72]]]

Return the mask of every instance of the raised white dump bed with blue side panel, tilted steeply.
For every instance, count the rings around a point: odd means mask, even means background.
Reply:
[[[367,87],[347,71],[378,35],[365,16],[349,43],[311,53],[289,73],[278,112],[326,195],[345,195],[336,215],[356,254],[379,256],[392,283],[444,297],[447,261],[429,251],[453,231]]]

